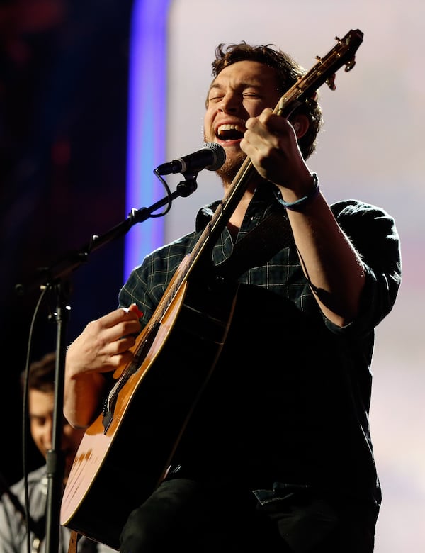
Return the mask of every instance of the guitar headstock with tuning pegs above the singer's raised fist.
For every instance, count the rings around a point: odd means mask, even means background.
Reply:
[[[326,83],[331,90],[335,90],[335,76],[338,69],[345,65],[345,71],[351,71],[356,65],[356,52],[363,42],[361,30],[350,30],[343,37],[335,37],[336,45],[324,57],[316,56],[316,64],[303,77],[291,86],[280,98],[275,113],[287,116],[296,104],[314,96],[314,92]]]

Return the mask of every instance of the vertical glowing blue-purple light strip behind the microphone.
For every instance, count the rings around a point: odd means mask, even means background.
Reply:
[[[164,162],[167,20],[171,0],[136,0],[130,29],[127,194],[125,207],[149,208],[165,196],[153,170]],[[149,218],[125,237],[124,279],[162,245],[164,222]]]

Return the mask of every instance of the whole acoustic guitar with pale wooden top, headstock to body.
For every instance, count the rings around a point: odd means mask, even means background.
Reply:
[[[336,71],[355,65],[363,41],[350,30],[280,98],[274,113],[288,117]],[[210,286],[210,253],[246,190],[255,168],[244,160],[212,220],[171,279],[137,337],[135,359],[113,374],[104,407],[87,428],[62,497],[60,523],[119,549],[130,512],[164,479],[196,403],[225,343],[237,301],[236,286]]]

